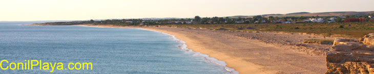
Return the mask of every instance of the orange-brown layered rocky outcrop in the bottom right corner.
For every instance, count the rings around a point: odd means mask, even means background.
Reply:
[[[374,74],[374,35],[359,40],[337,38],[326,54],[326,74]]]

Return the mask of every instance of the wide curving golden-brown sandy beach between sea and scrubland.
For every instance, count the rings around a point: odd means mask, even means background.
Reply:
[[[324,73],[326,70],[325,56],[311,56],[280,44],[230,33],[170,27],[82,26],[138,28],[175,35],[185,41],[189,49],[225,61],[228,67],[235,68],[239,73]]]

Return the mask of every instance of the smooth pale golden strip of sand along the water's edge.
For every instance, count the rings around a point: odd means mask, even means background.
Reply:
[[[276,73],[278,71],[276,70],[261,70],[261,68],[264,68],[262,65],[257,65],[251,62],[246,61],[239,61],[243,58],[233,58],[228,55],[225,55],[225,53],[218,53],[215,51],[209,51],[205,50],[204,46],[196,45],[194,43],[198,43],[199,41],[193,40],[191,38],[185,37],[185,34],[179,34],[175,32],[165,31],[165,30],[158,30],[158,29],[151,29],[151,28],[139,28],[139,27],[121,27],[121,26],[93,26],[93,25],[87,25],[87,24],[78,24],[78,26],[86,26],[86,27],[101,27],[101,28],[133,28],[133,29],[145,29],[150,31],[157,31],[169,35],[174,35],[177,39],[180,39],[185,42],[187,48],[194,52],[198,52],[201,54],[209,55],[211,58],[218,59],[219,61],[224,61],[227,65],[227,67],[234,68],[239,73]],[[200,49],[200,50],[198,50]]]

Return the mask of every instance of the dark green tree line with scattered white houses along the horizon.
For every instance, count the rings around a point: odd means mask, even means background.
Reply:
[[[60,24],[60,25],[70,25],[70,24],[114,24],[120,26],[130,26],[130,25],[152,25],[152,24],[232,24],[232,23],[255,23],[259,21],[264,21],[266,23],[274,23],[275,20],[283,21],[296,21],[299,23],[303,22],[304,19],[308,18],[324,18],[329,20],[329,18],[335,17],[335,22],[344,22],[345,18],[365,18],[367,21],[372,21],[372,18],[368,16],[374,16],[374,13],[367,15],[343,15],[343,16],[268,16],[263,17],[261,15],[248,17],[200,17],[195,16],[194,18],[181,18],[181,19],[154,19],[154,20],[143,20],[143,19],[107,19],[107,20],[88,20],[88,21],[71,21],[71,22],[47,22],[45,24]]]

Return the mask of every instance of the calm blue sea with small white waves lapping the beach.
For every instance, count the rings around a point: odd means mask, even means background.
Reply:
[[[237,73],[225,63],[185,48],[171,35],[141,29],[83,26],[25,26],[0,22],[0,60],[92,62],[92,70],[53,73]],[[3,67],[9,63],[2,63]],[[50,70],[0,69],[0,73],[50,73]]]

